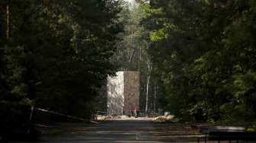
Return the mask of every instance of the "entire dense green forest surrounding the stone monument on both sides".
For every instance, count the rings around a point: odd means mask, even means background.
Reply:
[[[18,105],[88,119],[116,71],[140,71],[146,113],[255,121],[255,22],[254,0],[1,0],[0,126]]]

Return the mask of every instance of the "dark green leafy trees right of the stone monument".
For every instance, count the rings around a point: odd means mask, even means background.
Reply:
[[[184,119],[254,120],[255,2],[144,5],[165,110]]]

